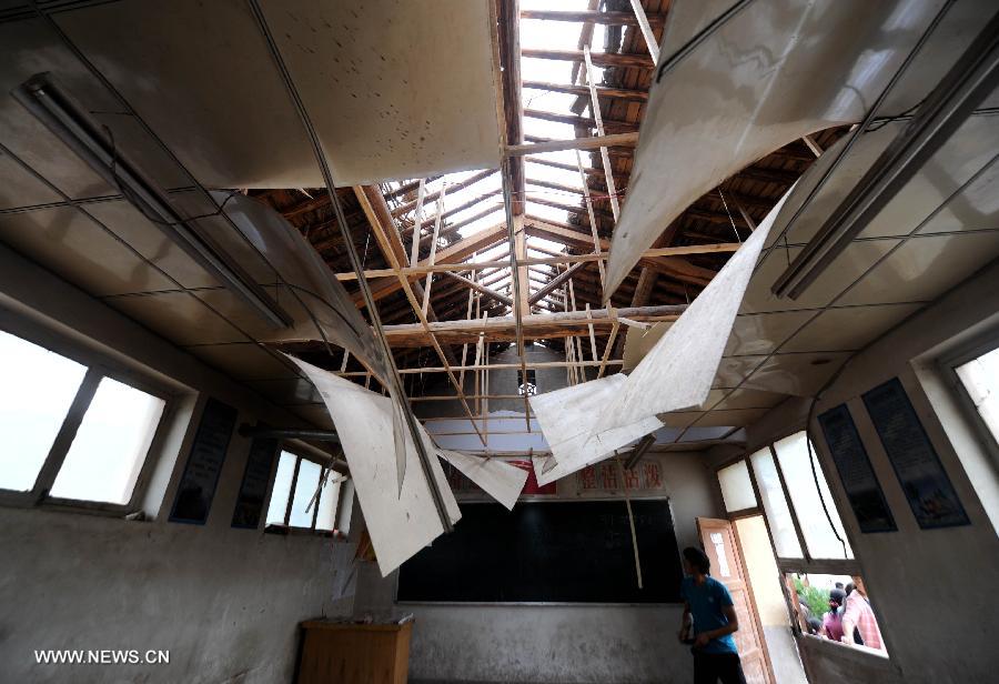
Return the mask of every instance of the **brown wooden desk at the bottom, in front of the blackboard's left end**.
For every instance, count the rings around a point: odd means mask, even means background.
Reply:
[[[406,684],[413,623],[302,623],[299,684]]]

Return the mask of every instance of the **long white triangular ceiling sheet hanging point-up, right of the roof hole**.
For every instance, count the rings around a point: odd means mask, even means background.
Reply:
[[[635,366],[622,391],[602,406],[594,421],[596,432],[704,403],[770,227],[793,191]]]

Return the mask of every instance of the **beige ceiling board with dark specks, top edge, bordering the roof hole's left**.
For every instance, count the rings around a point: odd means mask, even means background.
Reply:
[[[498,168],[487,0],[264,0],[339,184]]]

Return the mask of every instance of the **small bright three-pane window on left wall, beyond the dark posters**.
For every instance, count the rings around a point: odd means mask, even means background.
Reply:
[[[282,451],[266,524],[333,532],[342,481],[337,472]]]

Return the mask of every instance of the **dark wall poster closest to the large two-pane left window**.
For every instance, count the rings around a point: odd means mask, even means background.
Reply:
[[[208,520],[235,421],[235,409],[208,400],[173,500],[171,522],[203,525]]]

